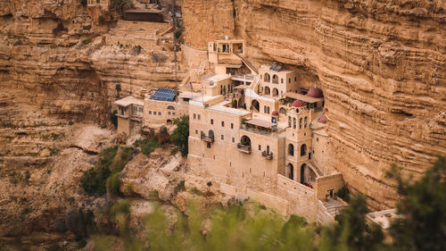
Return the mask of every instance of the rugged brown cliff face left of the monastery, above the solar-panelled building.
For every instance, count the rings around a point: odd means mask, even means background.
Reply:
[[[107,10],[80,0],[2,1],[4,98],[46,114],[103,123],[116,98],[175,85],[172,33],[161,34],[169,24],[137,27],[110,19]],[[182,72],[178,66],[178,82]]]

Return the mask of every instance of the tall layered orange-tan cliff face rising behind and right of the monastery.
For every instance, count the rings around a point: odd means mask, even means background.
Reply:
[[[393,206],[391,163],[417,176],[446,152],[446,5],[434,0],[189,0],[186,43],[247,41],[326,98],[334,167],[370,205]]]

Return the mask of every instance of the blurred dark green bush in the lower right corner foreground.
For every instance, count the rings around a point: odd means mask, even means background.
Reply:
[[[402,179],[396,165],[387,175],[397,181],[403,197],[398,204],[403,217],[391,228],[395,249],[446,250],[446,158],[440,156],[415,182]]]

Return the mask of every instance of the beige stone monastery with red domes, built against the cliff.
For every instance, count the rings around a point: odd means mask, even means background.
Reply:
[[[281,64],[255,69],[244,59],[244,40],[211,42],[208,55],[215,71],[202,79],[199,92],[159,88],[144,102],[116,101],[118,130],[129,135],[188,114],[191,172],[223,193],[252,198],[278,213],[334,221],[345,205],[334,199],[343,176],[327,164],[322,91],[301,88],[298,73]]]

